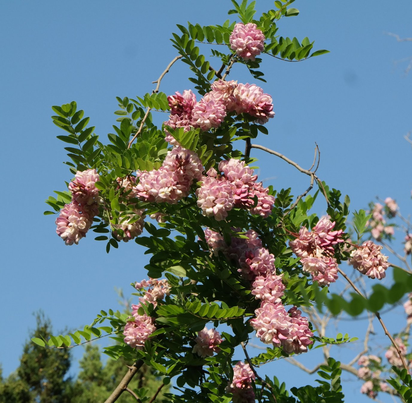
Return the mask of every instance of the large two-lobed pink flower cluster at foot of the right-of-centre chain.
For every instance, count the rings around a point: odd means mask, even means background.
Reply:
[[[289,354],[299,354],[306,352],[307,346],[313,343],[308,320],[301,313],[297,307],[292,307],[286,313],[281,303],[263,301],[260,308],[255,310],[256,318],[250,324],[262,342],[272,343],[275,347],[283,346],[283,350]]]

